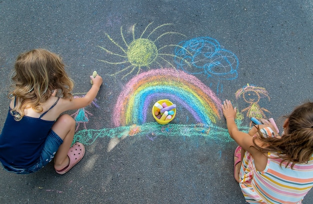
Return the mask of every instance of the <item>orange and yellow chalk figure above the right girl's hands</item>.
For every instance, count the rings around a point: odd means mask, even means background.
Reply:
[[[248,107],[241,110],[241,112],[246,111],[246,116],[248,118],[256,118],[256,119],[264,119],[266,118],[265,113],[270,113],[267,109],[261,108],[258,105],[258,102],[261,98],[266,97],[268,101],[270,100],[268,96],[268,92],[263,87],[257,87],[255,85],[249,85],[243,86],[241,89],[238,89],[235,93],[236,99],[238,99],[240,96],[242,96],[243,100],[249,104]],[[250,122],[250,126],[252,125],[252,122]]]

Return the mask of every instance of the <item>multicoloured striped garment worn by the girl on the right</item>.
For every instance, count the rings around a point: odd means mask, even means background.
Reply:
[[[261,129],[273,137],[270,128]],[[313,155],[308,163],[280,166],[282,159],[268,152],[264,171],[255,169],[250,153],[245,152],[239,173],[239,185],[246,202],[250,204],[301,204],[303,197],[313,186]]]

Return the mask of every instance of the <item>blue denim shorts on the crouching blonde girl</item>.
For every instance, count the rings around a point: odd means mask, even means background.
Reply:
[[[33,166],[27,169],[19,169],[14,168],[11,166],[3,166],[3,168],[8,172],[13,172],[16,174],[30,174],[33,172],[37,172],[38,170],[42,169],[45,165],[47,165],[51,160],[54,158],[56,151],[58,150],[59,146],[63,143],[63,140],[56,135],[53,130],[50,130],[48,133],[47,138],[45,139],[43,149],[41,151],[40,157]]]

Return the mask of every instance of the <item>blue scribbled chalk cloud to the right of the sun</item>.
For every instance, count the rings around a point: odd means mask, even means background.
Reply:
[[[196,37],[179,42],[175,47],[174,61],[177,68],[188,74],[204,74],[206,78],[215,80],[217,93],[223,90],[222,80],[232,80],[238,75],[237,56],[211,37]]]

